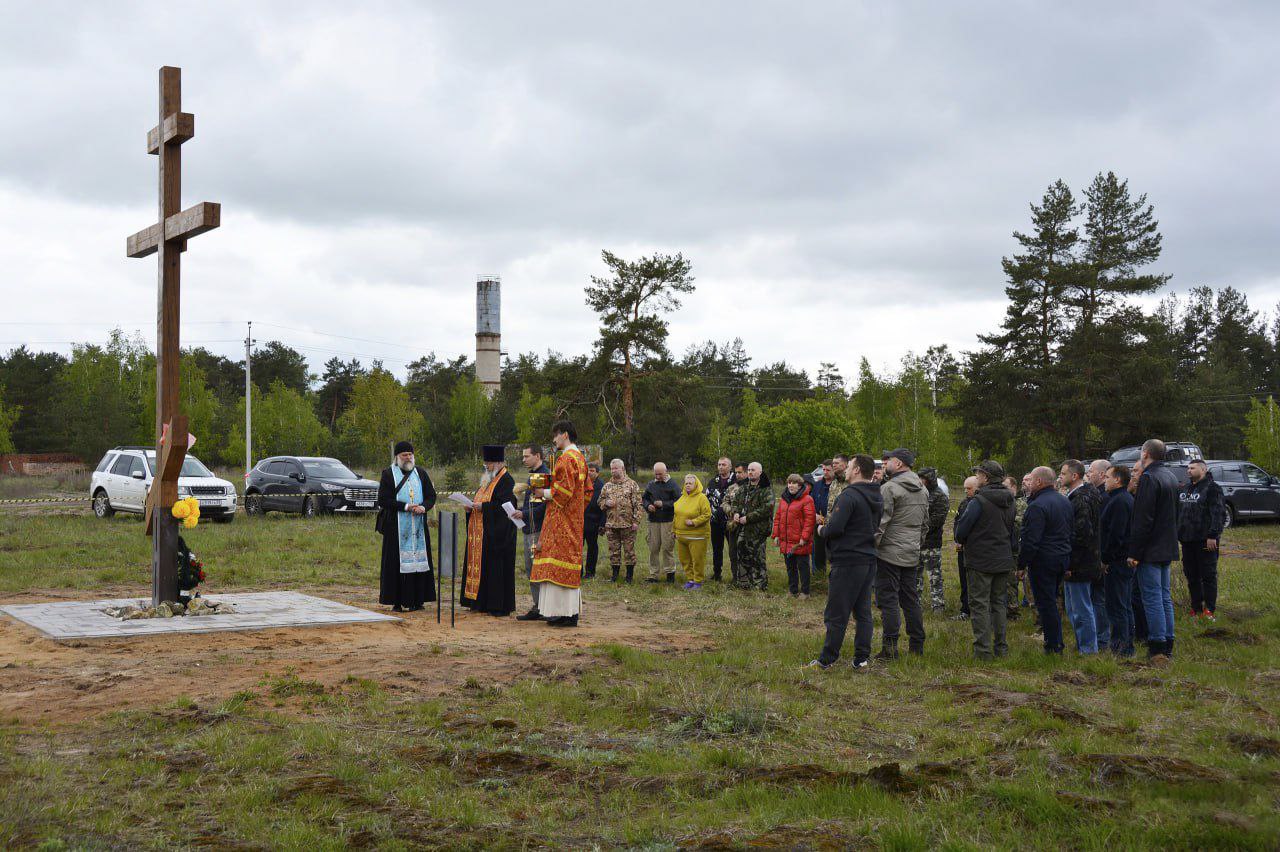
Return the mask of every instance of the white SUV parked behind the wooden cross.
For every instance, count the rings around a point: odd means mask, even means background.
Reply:
[[[147,490],[155,476],[156,452],[150,446],[116,446],[106,452],[88,484],[93,514],[146,512]],[[200,514],[219,523],[236,519],[236,486],[219,480],[195,455],[187,455],[178,476],[178,496],[200,500]]]

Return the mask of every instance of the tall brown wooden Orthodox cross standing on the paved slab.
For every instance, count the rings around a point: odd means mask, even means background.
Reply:
[[[147,133],[147,154],[160,156],[160,216],[129,237],[125,253],[159,261],[156,303],[156,464],[147,494],[151,603],[178,600],[178,527],[166,513],[178,500],[187,455],[187,418],[178,413],[178,319],[180,260],[187,239],[218,228],[221,206],[182,207],[182,143],[196,134],[196,116],[182,111],[182,69],[160,69],[160,123]],[[156,516],[156,513],[160,513]],[[159,518],[159,523],[156,522]]]

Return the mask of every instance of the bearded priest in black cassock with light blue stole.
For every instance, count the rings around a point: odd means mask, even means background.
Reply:
[[[383,536],[380,604],[397,613],[422,609],[435,600],[431,565],[431,532],[426,513],[435,505],[435,486],[426,471],[413,462],[413,445],[396,445],[396,463],[383,471],[378,484],[378,521]]]

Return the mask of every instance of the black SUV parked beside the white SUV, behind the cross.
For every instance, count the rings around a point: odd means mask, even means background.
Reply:
[[[273,455],[244,477],[244,513],[374,512],[378,482],[366,480],[335,458]]]

